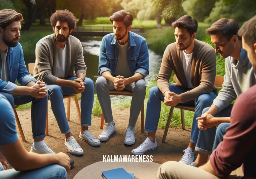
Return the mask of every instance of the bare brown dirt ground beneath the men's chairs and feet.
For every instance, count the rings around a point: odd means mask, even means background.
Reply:
[[[48,101],[49,102],[49,101]],[[67,100],[64,100],[65,106],[67,106]],[[79,101],[80,105],[80,101]],[[79,131],[81,130],[77,110],[75,103],[71,100],[71,114],[70,121],[68,122],[71,132],[79,145],[84,149],[84,155],[74,156],[68,153],[66,147],[64,147],[64,135],[60,133],[57,122],[53,116],[51,110],[51,104],[48,104],[48,115],[49,115],[49,136],[45,137],[45,143],[54,152],[67,153],[74,161],[74,168],[68,172],[68,178],[74,178],[74,176],[84,167],[103,160],[103,155],[131,155],[131,150],[137,148],[146,138],[147,133],[141,133],[140,131],[140,116],[136,125],[136,143],[131,146],[126,146],[123,141],[126,135],[126,128],[129,121],[129,108],[117,109],[113,108],[113,116],[116,124],[116,132],[112,137],[106,141],[101,142],[99,147],[92,147],[84,141],[79,140]],[[30,109],[17,111],[23,132],[26,137],[26,142],[23,145],[30,151],[31,145],[33,144],[32,131],[31,131],[31,118]],[[92,127],[89,127],[90,132],[98,137],[102,131],[100,129],[100,116],[92,118]],[[17,131],[18,128],[17,128]],[[153,162],[164,163],[169,160],[179,161],[183,155],[183,150],[187,147],[190,139],[190,129],[182,130],[179,128],[169,128],[166,143],[162,143],[164,129],[158,129],[156,133],[156,140],[158,148],[154,151],[147,152],[146,155],[153,155]],[[19,132],[18,132],[19,135]],[[20,135],[19,135],[20,137]],[[21,137],[20,137],[21,139]]]

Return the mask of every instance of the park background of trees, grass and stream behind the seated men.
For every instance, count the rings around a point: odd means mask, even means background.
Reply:
[[[49,24],[49,18],[52,13],[55,12],[55,10],[68,9],[73,12],[74,15],[77,17],[77,29],[75,30],[77,32],[99,32],[103,30],[105,32],[111,32],[112,25],[109,22],[109,17],[112,15],[112,13],[121,9],[125,9],[126,11],[131,12],[134,17],[132,28],[142,28],[141,31],[138,31],[138,34],[142,35],[146,39],[149,48],[150,74],[148,75],[148,77],[146,77],[146,109],[149,89],[152,86],[156,85],[156,76],[159,72],[163,52],[168,44],[175,42],[174,30],[171,28],[171,23],[173,21],[177,20],[182,15],[191,15],[199,23],[196,39],[207,42],[212,47],[214,47],[214,44],[211,43],[210,37],[205,34],[205,29],[209,28],[212,23],[216,22],[222,17],[235,19],[241,27],[246,20],[249,20],[251,17],[256,15],[256,1],[0,0],[0,10],[1,9],[15,9],[17,12],[20,12],[23,15],[24,20],[22,22],[21,38],[19,42],[23,47],[26,65],[28,63],[35,62],[35,46],[38,40],[46,35],[53,33],[53,30]],[[133,31],[133,29],[131,29],[131,31]],[[99,64],[99,48],[102,36],[80,35],[78,36],[78,39],[81,41],[84,47],[84,59],[85,64],[88,68],[87,77],[93,79],[93,81],[95,82],[97,77],[99,77],[97,71]],[[218,53],[216,69],[216,75],[225,75],[225,60],[220,58]],[[174,74],[172,74],[172,77],[173,75]],[[170,79],[170,83],[174,82],[172,77]],[[122,115],[126,116],[127,121],[129,119],[129,115],[127,114],[129,113],[131,97],[118,96],[112,97],[111,99],[113,113],[118,115],[120,113],[123,113]],[[29,127],[31,126],[31,124],[29,121],[30,117],[27,113],[30,113],[30,107],[31,103],[21,105],[17,109],[20,110],[19,113],[21,113],[21,115],[26,116],[26,119],[28,120],[26,125]],[[162,103],[162,111],[158,126],[159,129],[165,127],[169,110],[170,106],[165,106]],[[100,119],[100,115],[101,108],[95,94],[92,113],[93,119]],[[194,112],[185,111],[185,125],[188,129],[190,129],[192,126],[193,115]],[[49,117],[51,116],[52,119],[55,120],[53,115],[49,115]],[[118,121],[118,119],[116,119],[116,121]],[[140,127],[140,125],[137,126],[138,128]],[[99,126],[96,127],[99,128]],[[181,116],[179,109],[174,109],[170,127],[173,127],[175,128],[175,130],[178,131],[181,128]],[[29,132],[27,132],[28,135],[26,137],[31,138],[31,136],[29,136],[29,134],[31,133],[30,128],[28,129]],[[58,130],[56,130],[56,132],[58,132]],[[188,137],[189,133],[186,135]],[[141,136],[141,140],[143,141],[144,139],[145,137]],[[138,143],[136,143],[135,145],[138,145]],[[137,146],[134,146],[133,148],[136,147]],[[72,178],[72,176],[74,175],[69,175],[69,178]]]

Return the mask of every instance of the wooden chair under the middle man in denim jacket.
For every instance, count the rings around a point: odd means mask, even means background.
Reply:
[[[110,95],[122,95],[122,96],[133,96],[133,92],[130,92],[128,90],[111,90]],[[100,123],[100,128],[103,129],[104,125],[104,116],[103,113],[101,113],[101,123]],[[144,133],[144,103],[141,108],[141,133]]]

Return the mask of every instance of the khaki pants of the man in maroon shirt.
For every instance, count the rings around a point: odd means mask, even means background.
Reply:
[[[227,179],[240,179],[244,176],[242,167],[231,172]],[[170,161],[162,164],[157,172],[157,179],[220,179],[200,168],[188,166],[182,163]],[[221,178],[223,179],[223,178]]]

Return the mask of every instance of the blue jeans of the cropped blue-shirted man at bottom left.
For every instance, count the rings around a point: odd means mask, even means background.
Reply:
[[[14,169],[0,171],[1,179],[67,179],[64,167],[52,164],[35,170],[16,171]]]

